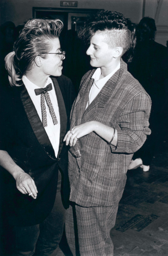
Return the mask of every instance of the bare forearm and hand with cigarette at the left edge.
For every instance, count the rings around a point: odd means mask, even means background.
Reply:
[[[29,174],[25,173],[4,150],[0,150],[0,166],[12,174],[16,180],[17,189],[22,194],[31,194],[31,196],[36,199],[38,191],[34,180]]]

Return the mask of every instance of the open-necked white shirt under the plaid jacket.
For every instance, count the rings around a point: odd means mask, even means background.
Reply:
[[[110,77],[112,77],[112,75],[114,75],[114,73],[119,68],[120,68],[120,63],[118,64],[118,66],[109,75],[105,76],[102,79],[99,79],[100,75],[101,75],[101,69],[100,68],[96,69],[96,71],[94,72],[94,74],[91,77],[92,79],[94,79],[94,83],[93,83],[92,87],[90,88],[89,100],[88,100],[86,109],[88,108],[90,103],[96,98],[96,96],[99,94],[99,92],[101,91],[103,86],[107,83],[107,81],[110,79]]]

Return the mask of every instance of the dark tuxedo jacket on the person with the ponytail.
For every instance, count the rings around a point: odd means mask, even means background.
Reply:
[[[67,147],[63,137],[69,130],[69,117],[75,94],[72,82],[66,76],[52,77],[60,113],[60,146],[55,157],[51,142],[42,126],[35,106],[24,85],[13,88],[13,95],[3,104],[1,150],[5,150],[37,186],[36,199],[23,195],[16,181],[8,175],[8,214],[14,225],[30,226],[43,221],[52,210],[61,170],[65,193],[64,205],[68,207]],[[10,97],[8,95],[8,97]],[[68,120],[68,121],[67,121]]]

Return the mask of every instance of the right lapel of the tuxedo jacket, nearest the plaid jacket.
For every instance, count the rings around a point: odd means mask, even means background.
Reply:
[[[60,146],[59,146],[59,152],[58,152],[58,155],[59,155],[63,147],[63,138],[67,131],[67,112],[66,112],[66,107],[62,97],[62,93],[56,78],[52,77],[52,81],[53,81],[55,93],[57,96],[59,115],[60,115]]]

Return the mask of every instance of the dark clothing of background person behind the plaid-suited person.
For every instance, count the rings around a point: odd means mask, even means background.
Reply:
[[[151,135],[133,156],[141,158],[143,165],[150,165],[157,141],[160,139],[166,116],[168,92],[168,52],[162,44],[153,40],[138,41],[133,61],[128,63],[128,71],[142,84],[152,100],[149,119]]]

